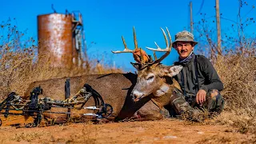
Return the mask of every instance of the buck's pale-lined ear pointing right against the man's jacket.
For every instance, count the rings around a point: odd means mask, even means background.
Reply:
[[[177,75],[181,70],[183,66],[165,66],[162,70],[162,77],[173,77]]]

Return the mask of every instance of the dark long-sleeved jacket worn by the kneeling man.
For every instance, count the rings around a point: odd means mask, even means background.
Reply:
[[[182,71],[174,78],[182,87],[185,95],[195,95],[198,90],[206,90],[206,93],[214,89],[223,90],[223,83],[218,77],[217,71],[205,56],[193,53],[189,61],[174,62],[174,65],[183,66]],[[196,75],[198,75],[198,81]]]

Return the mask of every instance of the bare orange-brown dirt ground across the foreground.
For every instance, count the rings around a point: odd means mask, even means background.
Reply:
[[[8,119],[3,122],[10,124]],[[256,143],[256,137],[254,134],[240,134],[230,126],[163,119],[98,124],[82,122],[34,128],[3,124],[0,143]]]

